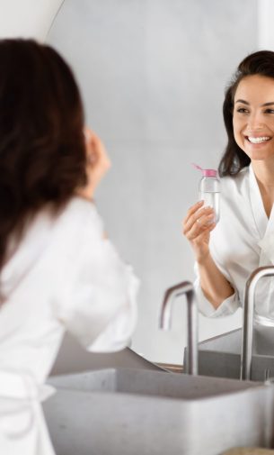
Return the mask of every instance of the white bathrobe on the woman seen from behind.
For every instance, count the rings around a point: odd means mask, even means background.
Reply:
[[[0,274],[0,454],[52,455],[40,401],[66,330],[88,350],[125,347],[137,278],[94,205],[75,197],[57,219],[31,222]]]

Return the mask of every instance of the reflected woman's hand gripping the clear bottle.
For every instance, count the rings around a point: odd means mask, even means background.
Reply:
[[[192,205],[182,222],[182,233],[190,241],[196,260],[202,263],[208,258],[210,232],[215,228],[214,210],[202,207],[204,201]]]

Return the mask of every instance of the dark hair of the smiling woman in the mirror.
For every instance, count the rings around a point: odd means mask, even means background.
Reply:
[[[272,77],[274,80],[274,52],[271,50],[259,50],[248,55],[240,63],[229,86],[226,87],[223,115],[228,141],[225,153],[218,167],[219,175],[221,177],[235,176],[242,168],[248,166],[251,162],[251,159],[234,140],[233,111],[234,96],[237,86],[243,77],[254,75]]]

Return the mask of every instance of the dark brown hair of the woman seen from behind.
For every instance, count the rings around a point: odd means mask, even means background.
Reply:
[[[84,109],[72,70],[50,46],[0,41],[0,268],[12,234],[87,181]]]

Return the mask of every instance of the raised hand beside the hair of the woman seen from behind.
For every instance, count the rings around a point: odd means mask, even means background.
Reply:
[[[86,175],[87,184],[78,188],[76,194],[85,199],[93,200],[95,188],[99,185],[102,177],[110,168],[110,159],[100,138],[90,129],[84,129],[86,149]]]

